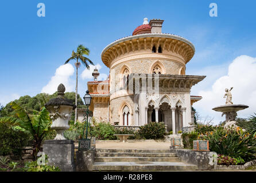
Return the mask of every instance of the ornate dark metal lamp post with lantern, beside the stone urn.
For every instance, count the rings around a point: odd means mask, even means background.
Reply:
[[[84,103],[87,106],[86,110],[86,124],[84,124],[84,129],[86,128],[86,138],[84,138],[84,130],[83,130],[83,137],[82,139],[79,139],[79,146],[78,150],[90,150],[91,146],[91,139],[87,138],[88,135],[88,115],[89,115],[89,106],[91,105],[91,95],[89,94],[89,91],[86,91],[86,94],[84,95]]]

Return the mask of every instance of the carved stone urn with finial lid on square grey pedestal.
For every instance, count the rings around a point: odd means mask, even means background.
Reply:
[[[75,145],[72,140],[64,137],[65,130],[69,129],[68,121],[72,110],[76,108],[71,100],[64,98],[65,86],[61,83],[57,89],[58,96],[45,104],[52,119],[51,128],[57,135],[53,140],[45,140],[42,145],[44,154],[48,156],[48,164],[58,166],[62,171],[74,171]]]

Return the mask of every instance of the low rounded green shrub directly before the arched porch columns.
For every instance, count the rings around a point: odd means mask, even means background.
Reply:
[[[139,126],[138,134],[145,139],[162,139],[165,135],[165,125],[162,122],[150,122],[144,126]]]

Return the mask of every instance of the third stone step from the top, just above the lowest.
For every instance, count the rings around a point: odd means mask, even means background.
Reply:
[[[180,162],[179,157],[96,157],[95,162]]]

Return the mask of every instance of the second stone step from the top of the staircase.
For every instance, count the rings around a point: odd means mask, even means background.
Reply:
[[[175,153],[95,153],[95,157],[177,157]]]

